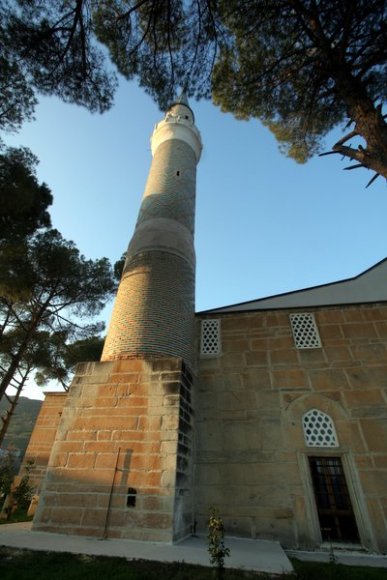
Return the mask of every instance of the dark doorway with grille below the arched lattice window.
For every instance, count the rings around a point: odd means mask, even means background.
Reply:
[[[309,457],[309,466],[323,541],[359,543],[340,457]]]

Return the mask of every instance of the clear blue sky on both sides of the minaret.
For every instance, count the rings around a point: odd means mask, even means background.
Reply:
[[[387,187],[332,155],[298,165],[258,121],[192,101],[198,166],[196,309],[207,310],[355,276],[387,256]],[[87,258],[118,259],[133,233],[162,118],[122,81],[104,115],[42,98],[36,120],[6,139],[39,158],[53,226]],[[327,136],[329,150],[340,133]],[[108,320],[110,309],[104,318]],[[36,392],[26,392],[36,396]]]

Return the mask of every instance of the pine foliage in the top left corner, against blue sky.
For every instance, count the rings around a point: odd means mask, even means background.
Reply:
[[[0,128],[33,115],[37,93],[103,112],[116,77],[98,46],[91,0],[0,0]]]

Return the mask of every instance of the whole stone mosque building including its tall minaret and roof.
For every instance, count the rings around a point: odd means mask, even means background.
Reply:
[[[387,260],[195,314],[196,167],[184,94],[153,160],[100,362],[48,393],[26,460],[33,529],[387,551]]]

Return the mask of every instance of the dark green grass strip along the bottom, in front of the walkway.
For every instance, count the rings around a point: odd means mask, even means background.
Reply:
[[[386,580],[386,569],[292,560],[297,575],[285,580]],[[1,580],[214,580],[211,568],[125,558],[79,556],[0,547]],[[226,570],[224,580],[268,580],[267,574]],[[277,580],[279,576],[273,576]]]

